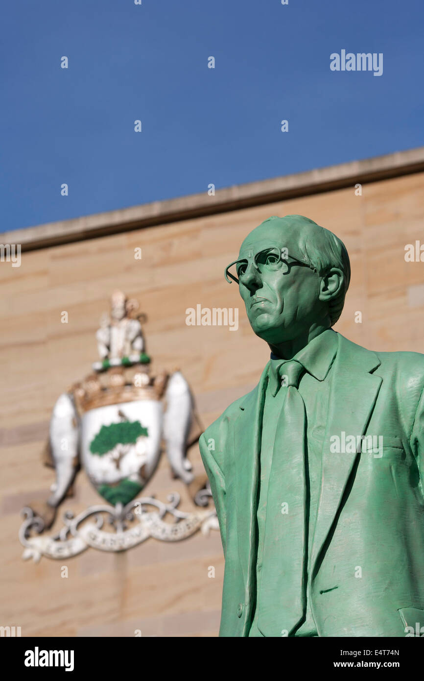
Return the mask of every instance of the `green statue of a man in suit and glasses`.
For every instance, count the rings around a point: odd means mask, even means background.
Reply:
[[[306,217],[265,220],[225,276],[271,358],[200,439],[225,553],[220,635],[424,633],[424,356],[331,329],[348,254]]]

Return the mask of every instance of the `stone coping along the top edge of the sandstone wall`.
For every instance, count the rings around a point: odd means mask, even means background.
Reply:
[[[208,192],[204,191],[131,208],[16,229],[12,232],[0,233],[0,243],[21,244],[22,251],[32,251],[108,234],[129,232],[132,229],[153,227],[342,189],[357,182],[370,183],[421,171],[424,171],[424,146],[361,161],[350,161],[340,165],[330,165],[327,168],[216,189],[214,196],[209,196]]]

